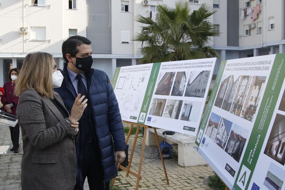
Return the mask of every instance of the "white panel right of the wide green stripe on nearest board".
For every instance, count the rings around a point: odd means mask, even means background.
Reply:
[[[285,80],[249,187],[285,189]]]

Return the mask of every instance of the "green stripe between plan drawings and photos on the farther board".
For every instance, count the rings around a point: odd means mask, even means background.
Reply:
[[[161,65],[161,63],[154,63],[152,65],[150,77],[149,77],[148,84],[146,87],[146,93],[145,93],[144,99],[143,99],[143,105],[141,107],[141,112],[140,112],[140,115],[138,118],[138,123],[140,123],[140,124],[144,124],[144,122],[145,122],[146,115],[147,115],[147,112],[149,109],[149,105],[151,103],[151,98],[152,98],[152,94],[154,91],[155,83],[156,83],[156,80],[158,77],[160,65]]]

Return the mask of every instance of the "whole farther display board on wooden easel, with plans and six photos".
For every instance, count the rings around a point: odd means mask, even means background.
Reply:
[[[122,120],[196,136],[217,58],[115,70]]]

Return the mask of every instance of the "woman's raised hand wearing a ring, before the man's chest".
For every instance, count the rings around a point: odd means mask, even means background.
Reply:
[[[80,97],[81,94],[78,94],[78,96],[76,97],[74,104],[71,108],[71,114],[69,119],[72,122],[72,125],[77,122],[78,120],[80,120],[85,108],[87,107],[87,99],[85,99],[83,102],[82,100],[85,98],[85,96]]]

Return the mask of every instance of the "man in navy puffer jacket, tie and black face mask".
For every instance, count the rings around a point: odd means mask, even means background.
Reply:
[[[110,179],[117,176],[117,163],[125,159],[125,134],[119,106],[109,77],[91,69],[91,42],[83,36],[71,36],[62,44],[66,61],[60,88],[70,112],[77,94],[85,95],[87,107],[79,120],[79,138],[75,144],[77,176],[74,189],[83,189],[88,178],[90,189],[109,189]]]

